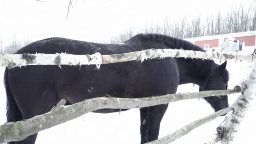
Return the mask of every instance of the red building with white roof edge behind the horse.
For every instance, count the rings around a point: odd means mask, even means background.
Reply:
[[[237,32],[232,34],[224,35],[212,35],[204,37],[187,38],[184,40],[190,41],[195,45],[202,48],[223,48],[224,40],[229,38],[235,38],[235,40],[243,41],[244,46],[255,46],[256,45],[256,31],[249,32]]]

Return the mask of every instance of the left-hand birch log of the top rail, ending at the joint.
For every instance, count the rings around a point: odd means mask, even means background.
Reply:
[[[83,65],[101,64],[101,54],[73,55],[67,53],[56,54],[0,54],[0,66],[21,67],[27,65]]]

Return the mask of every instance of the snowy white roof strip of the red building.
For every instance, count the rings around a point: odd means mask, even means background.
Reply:
[[[185,38],[184,40],[195,42],[195,41],[203,41],[203,40],[216,40],[220,38],[229,38],[229,37],[245,37],[245,36],[252,36],[256,35],[256,31],[248,31],[248,32],[237,32],[231,34],[224,34],[224,35],[210,35],[210,36],[203,36],[203,37],[193,37],[193,38]]]

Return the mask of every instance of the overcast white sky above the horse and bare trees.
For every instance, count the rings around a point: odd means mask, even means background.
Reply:
[[[253,0],[74,0],[66,19],[69,0],[0,0],[0,40],[6,46],[15,36],[32,41],[66,37],[103,42],[128,29],[226,13],[229,5],[249,5]]]

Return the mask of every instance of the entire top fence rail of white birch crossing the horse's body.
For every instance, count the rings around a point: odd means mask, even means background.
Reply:
[[[0,55],[0,66],[20,67],[25,65],[83,65],[96,64],[99,68],[100,64],[110,64],[124,61],[144,61],[147,59],[176,57],[176,58],[196,58],[196,59],[239,59],[253,60],[256,53],[218,53],[218,52],[202,52],[202,51],[185,51],[177,49],[148,49],[144,51],[136,51],[131,53],[101,55],[95,53],[93,55],[72,55],[66,53],[56,54],[5,54]]]

